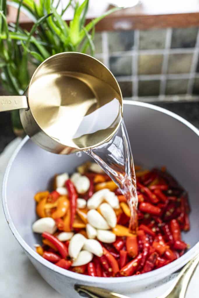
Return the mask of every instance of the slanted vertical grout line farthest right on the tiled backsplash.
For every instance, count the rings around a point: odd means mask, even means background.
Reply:
[[[196,44],[195,44],[195,51],[192,58],[192,65],[190,69],[190,76],[189,76],[189,82],[187,86],[187,94],[192,94],[193,91],[193,85],[194,85],[194,79],[196,76],[196,68],[198,64],[198,55],[199,55],[199,30],[196,38]]]

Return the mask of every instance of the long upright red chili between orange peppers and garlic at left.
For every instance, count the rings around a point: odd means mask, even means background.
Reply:
[[[72,229],[72,225],[73,222],[75,220],[75,213],[76,213],[76,209],[77,209],[77,191],[75,189],[74,184],[72,183],[72,181],[70,179],[68,179],[65,182],[65,185],[67,187],[68,190],[68,196],[70,199],[70,229]]]

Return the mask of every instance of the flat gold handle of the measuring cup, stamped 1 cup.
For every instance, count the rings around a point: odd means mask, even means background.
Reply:
[[[0,112],[28,108],[27,97],[21,96],[0,96]]]

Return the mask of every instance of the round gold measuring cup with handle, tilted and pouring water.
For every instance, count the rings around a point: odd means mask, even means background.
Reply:
[[[0,111],[20,109],[25,132],[59,154],[109,140],[121,122],[122,94],[100,61],[77,52],[51,56],[34,72],[23,96],[1,96]]]

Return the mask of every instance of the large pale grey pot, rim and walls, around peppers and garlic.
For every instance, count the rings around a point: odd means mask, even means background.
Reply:
[[[124,101],[124,119],[134,160],[146,167],[166,165],[168,171],[188,190],[191,203],[191,230],[184,240],[191,245],[178,260],[149,273],[132,277],[90,277],[59,268],[35,252],[34,243],[40,235],[31,227],[36,220],[33,196],[46,190],[55,173],[73,173],[75,167],[88,159],[75,154],[60,156],[46,152],[26,137],[13,154],[3,182],[3,207],[7,223],[30,261],[41,276],[59,293],[77,298],[75,284],[91,285],[125,294],[142,290],[163,280],[197,252],[199,230],[199,131],[183,118],[165,109],[146,103]],[[17,257],[17,256],[16,256]]]

